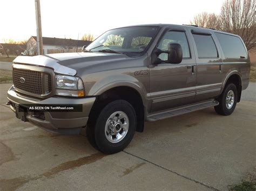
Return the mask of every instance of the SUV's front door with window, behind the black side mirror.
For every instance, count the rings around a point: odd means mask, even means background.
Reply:
[[[180,64],[160,63],[150,68],[151,112],[191,104],[196,95],[196,60],[184,27],[169,28],[157,43],[157,48],[168,49],[169,43],[179,43],[183,50]],[[167,53],[158,56],[167,60]]]

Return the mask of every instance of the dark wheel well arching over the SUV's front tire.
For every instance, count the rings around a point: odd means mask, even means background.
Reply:
[[[100,94],[93,104],[92,110],[89,115],[90,118],[97,118],[96,116],[99,114],[99,111],[103,109],[108,103],[111,101],[123,99],[128,101],[134,108],[137,117],[137,128],[136,131],[143,132],[144,129],[144,105],[142,101],[142,97],[132,87],[127,86],[119,86],[111,88],[106,92]]]

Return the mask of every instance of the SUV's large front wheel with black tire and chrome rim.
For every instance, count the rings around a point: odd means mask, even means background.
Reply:
[[[113,154],[130,144],[135,130],[134,108],[125,100],[116,100],[99,112],[94,125],[89,124],[86,133],[92,146],[105,154]]]

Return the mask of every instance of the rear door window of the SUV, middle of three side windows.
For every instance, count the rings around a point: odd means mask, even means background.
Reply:
[[[199,58],[216,58],[218,52],[211,35],[193,34]]]

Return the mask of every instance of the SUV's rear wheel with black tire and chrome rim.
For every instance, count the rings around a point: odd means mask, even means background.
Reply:
[[[229,98],[227,103],[226,98]],[[214,107],[216,113],[220,115],[232,114],[237,105],[237,86],[232,83],[228,84],[217,100],[219,101],[219,105]]]

